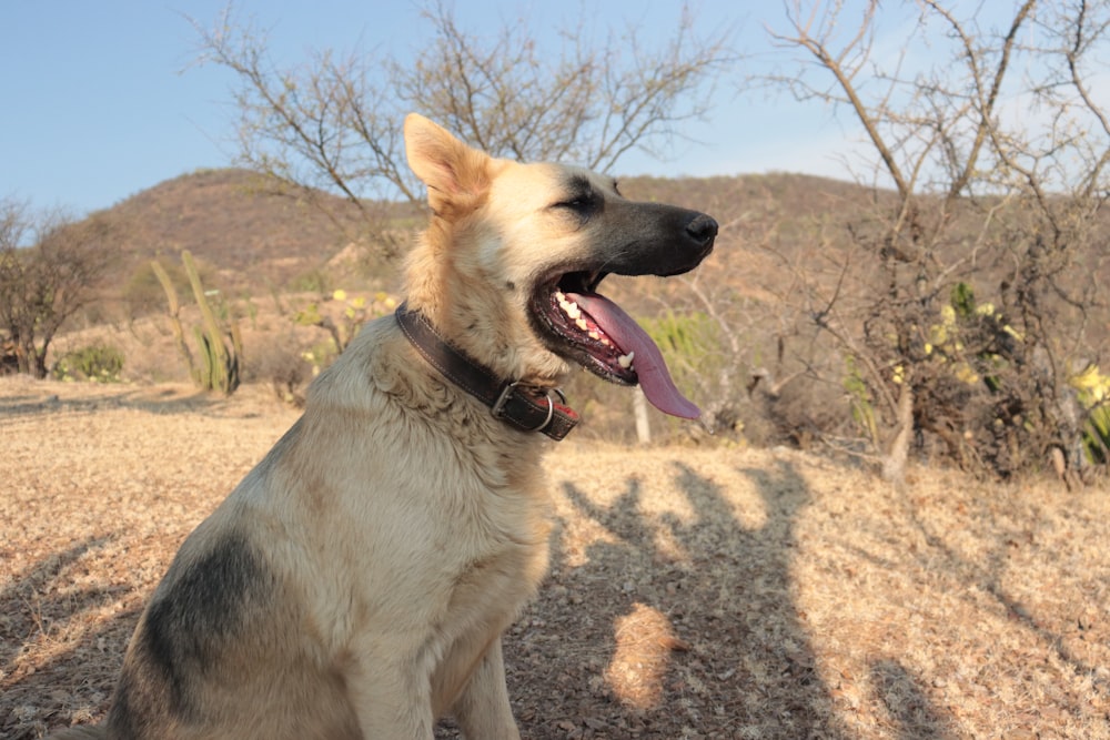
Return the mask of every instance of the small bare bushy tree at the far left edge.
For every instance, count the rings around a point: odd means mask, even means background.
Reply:
[[[32,234],[34,243],[24,245]],[[108,221],[95,215],[75,223],[0,202],[0,332],[17,372],[46,377],[54,335],[95,297],[110,265],[110,239]]]

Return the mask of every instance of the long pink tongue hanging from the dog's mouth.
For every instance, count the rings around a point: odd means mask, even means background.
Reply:
[[[567,293],[567,298],[578,304],[597,323],[610,339],[625,353],[635,352],[633,367],[639,376],[639,387],[652,405],[664,414],[694,419],[702,416],[702,409],[678,393],[663,354],[647,332],[639,327],[632,316],[604,295],[591,293],[579,295]]]

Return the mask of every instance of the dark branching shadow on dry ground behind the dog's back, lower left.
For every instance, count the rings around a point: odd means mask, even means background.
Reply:
[[[112,539],[93,537],[54,553],[0,589],[0,737],[39,738],[48,726],[68,724],[74,711],[88,720],[107,706],[140,607],[104,619],[97,612],[131,587],[73,588],[65,572]],[[70,643],[65,635],[73,630],[80,636]]]

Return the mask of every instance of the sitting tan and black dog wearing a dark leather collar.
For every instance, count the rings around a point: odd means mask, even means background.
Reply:
[[[692,270],[717,223],[417,114],[404,138],[431,210],[405,303],[185,539],[105,723],[57,740],[426,740],[448,713],[472,740],[519,738],[501,635],[547,569],[541,455],[578,420],[558,386],[583,366],[698,415],[597,286]]]

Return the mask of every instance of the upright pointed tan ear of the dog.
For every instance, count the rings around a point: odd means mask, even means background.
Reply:
[[[471,149],[423,115],[405,118],[408,166],[427,185],[432,211],[453,219],[473,211],[490,187],[490,156]]]

